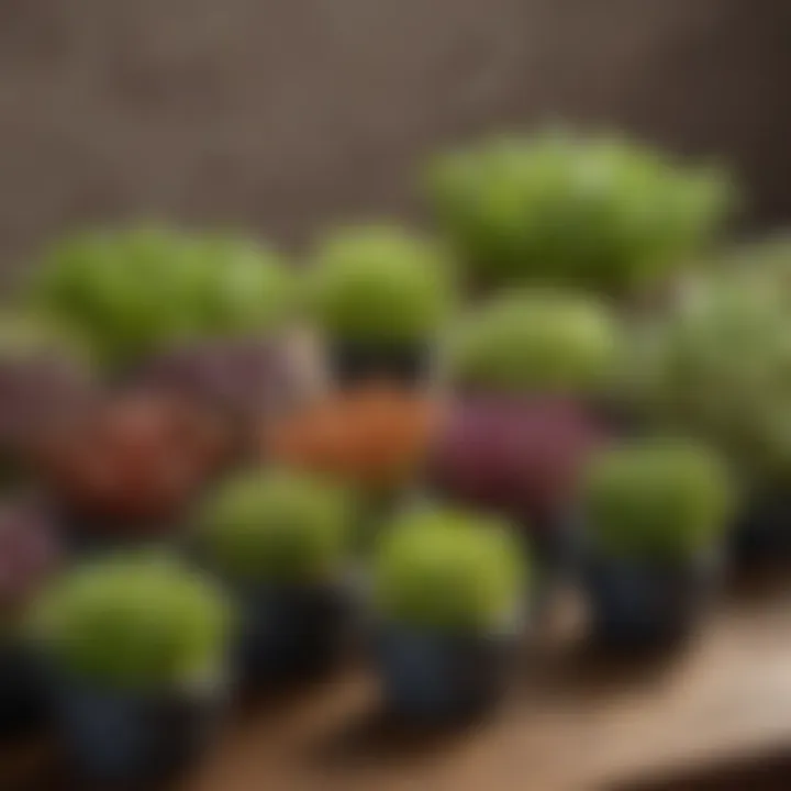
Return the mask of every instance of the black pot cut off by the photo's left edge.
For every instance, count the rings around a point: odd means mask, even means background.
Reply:
[[[33,653],[0,643],[0,737],[25,735],[46,721],[46,694]]]

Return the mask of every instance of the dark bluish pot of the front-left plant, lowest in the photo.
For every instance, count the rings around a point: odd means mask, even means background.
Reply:
[[[103,782],[149,783],[187,768],[210,745],[224,702],[222,684],[135,693],[62,679],[54,692],[67,758]]]

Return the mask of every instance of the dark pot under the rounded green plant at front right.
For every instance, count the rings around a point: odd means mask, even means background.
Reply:
[[[720,577],[720,558],[701,554],[677,566],[589,554],[581,577],[592,635],[609,647],[643,648],[688,636]]]

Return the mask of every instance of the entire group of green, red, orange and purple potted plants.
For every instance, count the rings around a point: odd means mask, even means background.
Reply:
[[[9,720],[46,690],[83,768],[159,773],[237,684],[355,639],[392,709],[455,718],[558,571],[597,638],[656,646],[791,547],[791,257],[698,266],[723,177],[545,135],[428,181],[437,238],[345,229],[301,271],[151,227],[51,250],[0,326],[0,449],[35,495],[0,520]]]

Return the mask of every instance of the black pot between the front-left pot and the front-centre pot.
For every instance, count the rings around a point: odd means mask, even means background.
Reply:
[[[261,586],[237,595],[244,687],[317,677],[337,666],[352,623],[350,599],[341,586]]]

